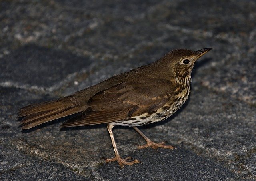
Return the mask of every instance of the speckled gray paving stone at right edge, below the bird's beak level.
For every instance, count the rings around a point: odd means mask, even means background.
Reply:
[[[247,50],[248,51],[248,50]],[[215,51],[214,51],[215,52]],[[215,66],[200,68],[198,80],[202,85],[219,92],[227,92],[235,99],[256,105],[256,52],[234,52],[220,57]],[[214,60],[213,63],[218,62]],[[211,60],[209,61],[210,64]]]

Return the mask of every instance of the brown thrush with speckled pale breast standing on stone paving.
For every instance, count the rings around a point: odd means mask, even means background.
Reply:
[[[61,127],[107,123],[116,156],[103,159],[106,162],[118,161],[121,167],[140,161],[128,161],[130,157],[120,157],[112,132],[115,125],[134,127],[147,142],[146,145],[138,146],[139,149],[150,146],[173,149],[171,145],[154,143],[136,126],[162,121],[184,104],[190,92],[194,64],[211,49],[176,49],[152,64],[118,74],[72,95],[23,107],[18,115],[25,116],[20,121],[22,129],[30,129],[75,113],[79,115]]]

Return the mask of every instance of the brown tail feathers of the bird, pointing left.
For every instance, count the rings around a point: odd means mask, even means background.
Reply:
[[[85,109],[86,105],[82,106],[77,99],[67,96],[58,100],[23,107],[19,110],[18,117],[25,116],[20,121],[23,124],[22,129],[30,129],[54,119],[82,112]]]

